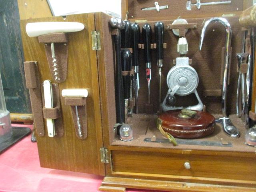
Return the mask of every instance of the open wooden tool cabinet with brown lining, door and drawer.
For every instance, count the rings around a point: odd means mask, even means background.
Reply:
[[[108,22],[110,16],[97,12],[88,14],[68,15],[65,17],[51,17],[21,20],[22,42],[25,61],[36,61],[35,70],[38,72],[39,86],[44,80],[51,80],[50,70],[44,50],[44,44],[38,42],[37,37],[30,38],[26,34],[26,24],[29,22],[81,22],[84,30],[67,33],[68,36],[68,69],[67,78],[58,83],[60,92],[60,112],[63,120],[63,136],[50,138],[47,135],[45,120],[44,136],[37,136],[38,152],[42,167],[74,172],[85,172],[105,176],[100,190],[123,192],[126,188],[141,188],[165,191],[219,191],[219,192],[253,192],[256,191],[256,149],[244,144],[244,124],[235,115],[237,60],[235,54],[241,52],[242,27],[238,17],[247,1],[233,0],[228,6],[202,6],[201,10],[193,8],[186,10],[186,0],[162,0],[160,6],[169,5],[169,9],[142,12],[140,8],[154,6],[153,0],[123,0],[122,13],[129,10],[129,19],[137,21],[140,28],[145,22],[154,25],[156,21],[163,21],[165,26],[172,24],[178,16],[188,23],[195,23],[196,29],[190,29],[188,39],[192,66],[199,75],[198,93],[206,110],[216,117],[221,114],[219,95],[207,96],[205,90],[220,90],[221,50],[225,42],[222,26],[213,24],[206,34],[202,51],[198,51],[198,43],[202,23],[212,16],[223,13],[233,14],[227,17],[233,31],[232,64],[228,93],[228,112],[232,122],[238,126],[240,138],[230,138],[224,134],[218,124],[211,136],[198,140],[231,142],[227,146],[196,146],[161,144],[144,142],[144,138],[163,138],[156,129],[156,115],[146,114],[146,79],[144,53],[140,50],[140,91],[139,114],[134,114],[129,123],[134,130],[134,140],[122,142],[115,134],[116,123],[115,94],[114,94],[114,47],[112,43],[112,29]],[[145,21],[144,19],[148,19]],[[153,29],[154,27],[152,27]],[[96,32],[94,32],[96,31]],[[178,38],[171,30],[164,31],[163,75],[166,78],[168,70],[173,66],[173,59],[178,57],[176,44]],[[94,34],[99,34],[94,36]],[[154,33],[152,34],[154,36]],[[98,40],[96,39],[98,37]],[[95,44],[97,42],[97,44]],[[152,38],[154,43],[154,38]],[[97,48],[98,46],[98,48]],[[96,47],[96,50],[93,50]],[[99,48],[100,47],[100,48]],[[152,93],[158,93],[158,76],[154,50],[152,50]],[[74,130],[70,106],[66,105],[61,96],[63,89],[86,88],[87,133],[86,139],[79,139]],[[166,79],[163,80],[162,97],[167,92]],[[37,97],[42,102],[43,95]],[[158,95],[152,94],[153,98]],[[188,102],[194,102],[188,97]],[[184,99],[183,99],[184,101]],[[157,99],[153,101],[157,110]],[[33,104],[32,104],[33,106]],[[33,113],[41,112],[34,108]],[[40,120],[38,120],[40,121]],[[38,122],[37,121],[37,122]],[[36,121],[35,121],[36,122]],[[36,128],[40,124],[35,123]],[[145,134],[145,130],[148,129]],[[189,163],[189,167],[184,164]],[[75,190],[75,189],[74,189]],[[86,190],[86,189],[85,189]]]

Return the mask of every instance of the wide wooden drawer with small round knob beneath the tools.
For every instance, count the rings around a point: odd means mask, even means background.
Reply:
[[[112,172],[256,180],[255,154],[190,150],[172,150],[168,153],[167,150],[165,151],[111,150]],[[190,169],[185,168],[186,162],[190,164]]]

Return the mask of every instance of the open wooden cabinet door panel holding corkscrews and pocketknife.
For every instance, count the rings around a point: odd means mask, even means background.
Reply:
[[[100,96],[97,68],[97,53],[92,50],[91,32],[95,30],[94,14],[78,14],[62,17],[21,20],[22,42],[25,61],[37,61],[40,83],[51,80],[44,44],[38,43],[38,37],[30,38],[26,34],[29,22],[80,22],[84,30],[67,33],[68,35],[68,72],[66,81],[59,83],[60,102],[64,126],[64,136],[50,138],[47,134],[37,137],[40,164],[42,167],[90,174],[105,175],[104,163],[100,161],[102,141],[102,122],[100,114]],[[63,89],[86,88],[88,137],[80,140],[76,137],[70,106],[65,105],[61,96]]]

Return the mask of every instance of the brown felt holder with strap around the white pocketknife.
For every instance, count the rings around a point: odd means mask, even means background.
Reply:
[[[44,89],[42,89],[43,92]],[[42,93],[44,103],[44,93]],[[62,137],[64,135],[62,113],[60,110],[60,92],[59,86],[56,83],[52,83],[52,99],[53,108],[43,107],[43,115],[45,119],[54,119],[54,128],[56,132],[55,137]]]

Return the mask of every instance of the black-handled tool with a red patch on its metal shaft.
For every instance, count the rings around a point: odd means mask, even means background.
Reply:
[[[144,24],[142,27],[142,38],[144,43],[144,60],[146,63],[146,80],[148,82],[148,104],[150,104],[150,80],[151,80],[151,26]]]

